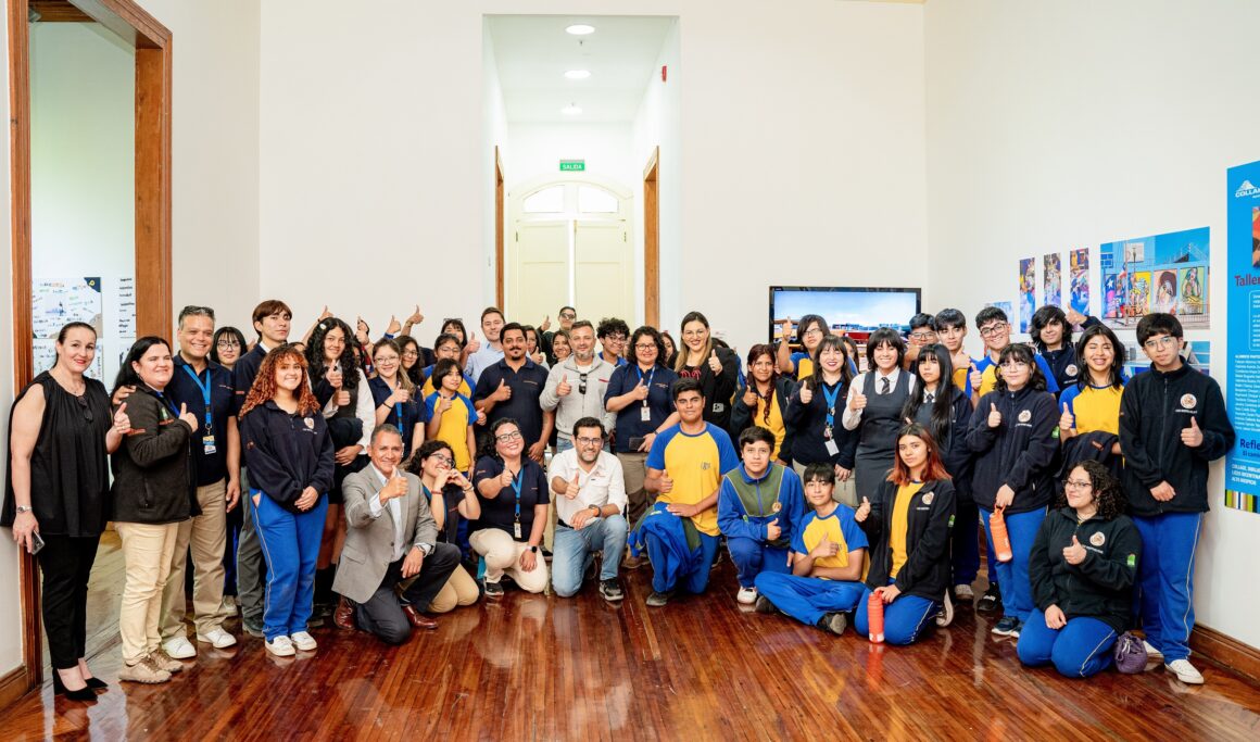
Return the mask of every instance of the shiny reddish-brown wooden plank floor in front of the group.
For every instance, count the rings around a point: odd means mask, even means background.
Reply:
[[[730,562],[709,593],[648,608],[509,591],[388,648],[314,631],[316,653],[276,659],[243,637],[199,645],[166,685],[115,683],[121,556],[102,544],[92,585],[94,703],[50,683],[0,718],[0,739],[1260,739],[1260,687],[1200,663],[1081,682],[1024,670],[970,608],[911,648],[876,648],[735,602]],[[96,631],[92,631],[92,629]],[[236,624],[229,627],[239,631]]]

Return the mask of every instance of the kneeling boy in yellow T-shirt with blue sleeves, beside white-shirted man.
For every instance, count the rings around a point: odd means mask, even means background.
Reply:
[[[731,436],[704,422],[699,380],[680,378],[672,393],[682,422],[651,443],[644,485],[658,499],[631,535],[634,553],[646,551],[651,561],[653,593],[648,605],[653,607],[669,602],[679,585],[693,593],[708,587],[709,567],[721,540],[718,485],[724,472],[740,465]]]

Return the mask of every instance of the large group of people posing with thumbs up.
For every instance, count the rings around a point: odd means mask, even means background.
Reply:
[[[294,343],[282,301],[255,309],[252,340],[189,306],[176,346],[139,339],[112,389],[84,375],[92,326],[66,325],[14,403],[0,522],[38,557],[57,692],[106,687],[84,636],[108,522],[126,682],[232,646],[237,612],[277,656],[315,650],[324,619],[402,644],[509,588],[591,582],[615,603],[645,563],[663,607],[706,592],[724,552],[740,603],[832,634],[906,645],[974,603],[1028,665],[1089,676],[1140,627],[1148,658],[1202,683],[1194,549],[1234,430],[1176,316],[1140,320],[1133,378],[1111,330],[1057,307],[1032,344],[982,310],[980,359],[953,309],[857,339],[786,320],[746,358],[698,311],[678,345],[557,316],[489,307],[430,349],[418,307],[377,338],[325,307]]]

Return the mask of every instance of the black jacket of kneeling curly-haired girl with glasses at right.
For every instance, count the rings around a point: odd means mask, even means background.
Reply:
[[[1072,566],[1063,549],[1072,537],[1085,547],[1085,561]],[[1128,515],[1080,525],[1071,508],[1051,510],[1028,554],[1028,579],[1037,607],[1058,606],[1068,619],[1089,616],[1123,634],[1133,612],[1133,583],[1142,559],[1142,535]]]

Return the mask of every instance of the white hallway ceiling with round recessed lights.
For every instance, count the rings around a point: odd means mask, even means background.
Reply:
[[[488,18],[508,121],[633,121],[673,25],[662,16],[491,15]],[[566,26],[585,23],[593,34]],[[568,69],[591,77],[564,78]],[[561,113],[576,103],[578,116]]]

